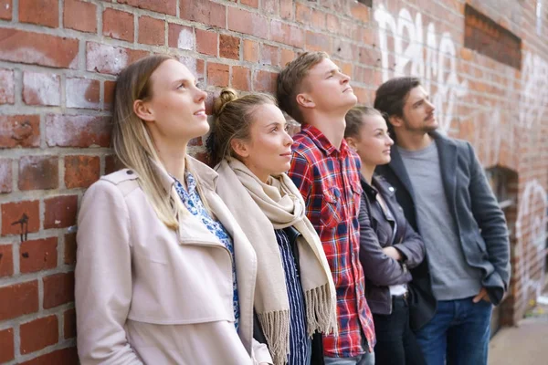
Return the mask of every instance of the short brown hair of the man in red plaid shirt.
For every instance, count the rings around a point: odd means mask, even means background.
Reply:
[[[299,104],[297,104],[297,95],[301,91],[302,80],[308,75],[311,68],[325,58],[329,58],[325,52],[304,52],[288,63],[278,75],[276,98],[279,109],[288,113],[299,123],[302,123],[303,120]]]

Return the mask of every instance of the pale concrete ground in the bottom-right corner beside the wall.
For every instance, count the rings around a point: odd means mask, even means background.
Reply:
[[[548,305],[538,305],[517,327],[501,328],[491,339],[489,365],[506,364],[548,364]]]

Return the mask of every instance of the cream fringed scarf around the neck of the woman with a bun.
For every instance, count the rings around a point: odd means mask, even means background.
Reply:
[[[275,365],[290,351],[290,304],[275,229],[294,226],[298,239],[300,284],[306,302],[308,335],[337,332],[332,274],[299,190],[285,173],[258,180],[248,167],[228,158],[217,166],[217,193],[253,245],[258,260],[255,310]],[[236,253],[237,257],[237,253]]]

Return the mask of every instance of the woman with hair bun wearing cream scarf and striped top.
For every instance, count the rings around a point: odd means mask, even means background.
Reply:
[[[255,337],[276,365],[322,364],[321,332],[336,330],[332,275],[299,190],[284,173],[286,120],[267,95],[224,89],[207,141],[227,203],[258,257]],[[313,339],[312,339],[313,338]]]

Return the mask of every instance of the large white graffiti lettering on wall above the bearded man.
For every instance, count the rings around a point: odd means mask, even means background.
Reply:
[[[406,8],[393,16],[379,5],[374,19],[379,26],[383,81],[404,75],[421,78],[441,129],[449,130],[457,99],[468,93],[468,82],[458,80],[457,50],[449,33],[437,36],[433,23],[425,28],[422,15],[416,13],[414,19]],[[394,37],[393,49],[388,49],[388,36]],[[391,56],[395,57],[393,65],[389,64]]]

